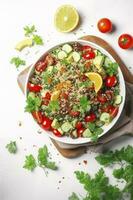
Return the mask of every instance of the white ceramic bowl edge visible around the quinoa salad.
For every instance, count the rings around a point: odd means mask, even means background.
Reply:
[[[99,49],[103,54],[107,55],[113,62],[116,62],[114,60],[114,58],[105,50],[103,49],[102,47],[92,43],[92,42],[89,42],[89,41],[85,41],[85,40],[73,40],[73,41],[65,41],[65,42],[62,42],[62,43],[58,43],[54,46],[51,46],[49,47],[48,49],[45,50],[44,54],[37,60],[37,62],[39,60],[41,60],[41,58],[47,54],[48,52],[50,52],[53,48],[55,47],[58,47],[59,45],[62,45],[64,43],[71,43],[71,42],[78,42],[78,43],[81,43],[82,45],[90,45],[92,46],[93,48],[95,49]],[[36,63],[37,63],[36,62]],[[36,64],[35,63],[35,64]],[[29,77],[32,75],[33,71],[34,71],[34,65],[32,65],[32,67],[30,68],[29,70],[29,73],[28,73],[28,76],[27,76],[27,80],[26,80],[26,86],[27,86],[27,83],[29,81]],[[119,112],[117,114],[117,116],[112,120],[112,122],[109,124],[109,125],[104,125],[102,128],[103,128],[103,133],[99,136],[101,137],[102,135],[104,135],[105,133],[107,133],[113,126],[114,124],[117,122],[117,120],[119,119],[120,115],[121,115],[121,112],[123,110],[123,107],[124,107],[124,102],[125,102],[125,81],[124,81],[124,78],[123,78],[123,75],[122,75],[122,72],[121,72],[121,69],[118,68],[118,75],[119,75],[119,81],[120,81],[120,95],[123,97],[123,101],[122,103],[120,104],[120,107],[119,107]],[[27,96],[27,87],[25,87],[25,94]],[[31,115],[32,116],[32,115]],[[34,120],[35,121],[35,120]],[[38,125],[39,126],[39,125]],[[40,127],[40,126],[39,126]],[[49,137],[53,138],[54,140],[58,141],[58,142],[62,142],[62,143],[65,143],[65,144],[71,144],[71,145],[81,145],[81,144],[85,144],[85,143],[88,143],[90,142],[90,138],[77,138],[77,139],[73,139],[73,138],[70,138],[70,137],[57,137],[55,136],[52,132],[50,131],[45,131],[42,129],[42,131],[45,132],[45,134],[47,134]]]

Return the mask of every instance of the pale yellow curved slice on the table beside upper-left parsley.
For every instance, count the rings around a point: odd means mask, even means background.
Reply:
[[[22,41],[20,41],[15,49],[18,50],[18,51],[22,51],[22,49],[24,49],[25,47],[31,47],[33,44],[33,41],[31,38],[27,38],[27,39],[24,39]]]

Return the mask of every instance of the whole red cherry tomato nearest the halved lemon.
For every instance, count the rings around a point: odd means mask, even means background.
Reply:
[[[107,33],[112,30],[112,22],[108,18],[102,18],[98,21],[97,27],[100,32]]]

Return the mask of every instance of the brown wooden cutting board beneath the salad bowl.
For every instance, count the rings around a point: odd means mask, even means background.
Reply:
[[[133,74],[131,74],[131,72],[127,69],[127,67],[125,66],[124,62],[118,56],[116,51],[110,46],[110,44],[108,44],[105,40],[103,40],[103,39],[101,39],[101,38],[99,38],[97,36],[93,36],[93,35],[87,35],[87,36],[84,36],[84,37],[82,37],[80,39],[93,42],[93,43],[101,46],[102,48],[104,48],[106,51],[108,51],[108,53],[110,53],[112,55],[112,57],[116,60],[116,62],[119,64],[119,66],[120,66],[120,68],[121,68],[121,70],[123,72],[124,79],[127,82],[133,84]],[[19,74],[19,76],[18,76],[18,84],[19,84],[19,86],[20,86],[20,88],[21,88],[21,90],[23,92],[24,92],[24,88],[22,86],[22,80],[20,80],[20,79],[22,79],[22,76],[24,74],[27,74],[28,69],[29,68],[27,68],[26,70],[21,72]],[[61,148],[59,146],[59,144],[55,140],[53,140],[53,139],[51,139],[51,140],[52,140],[53,144],[55,145],[55,147],[57,148],[57,150],[62,154],[62,156],[66,157],[66,158],[78,157],[78,156],[82,155],[86,151],[86,147],[85,146],[78,147],[78,148],[75,148],[75,149],[63,149],[63,148]]]

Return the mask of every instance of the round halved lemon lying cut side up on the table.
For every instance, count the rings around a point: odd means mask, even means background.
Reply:
[[[71,5],[59,7],[55,13],[54,24],[60,32],[70,32],[76,28],[79,23],[79,14]]]

